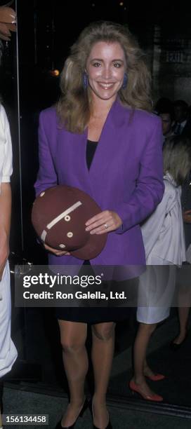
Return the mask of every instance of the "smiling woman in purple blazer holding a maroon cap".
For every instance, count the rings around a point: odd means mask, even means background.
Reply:
[[[61,90],[56,108],[40,116],[37,194],[67,184],[86,191],[100,205],[102,212],[86,222],[86,230],[108,233],[107,244],[91,265],[144,264],[139,224],[164,191],[162,126],[156,115],[147,113],[150,74],[129,30],[112,22],[86,27],[65,62]],[[45,247],[51,252],[50,264],[82,264],[70,254]],[[111,428],[105,395],[115,310],[63,308],[57,316],[70,388],[70,404],[57,427],[73,428],[84,404],[85,341],[91,322],[93,427]]]

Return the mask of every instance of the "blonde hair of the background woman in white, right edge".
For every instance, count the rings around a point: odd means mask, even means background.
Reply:
[[[163,147],[164,174],[169,172],[179,186],[191,170],[191,142],[188,137],[176,135],[166,139]]]

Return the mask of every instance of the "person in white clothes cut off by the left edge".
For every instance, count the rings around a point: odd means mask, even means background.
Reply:
[[[6,111],[0,104],[0,378],[11,371],[17,357],[17,350],[11,340],[11,288],[8,268],[11,173],[11,134]]]

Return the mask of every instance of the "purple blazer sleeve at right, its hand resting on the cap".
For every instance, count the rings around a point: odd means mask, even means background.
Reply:
[[[117,207],[122,225],[116,233],[124,233],[143,222],[157,207],[164,194],[162,126],[160,121],[152,129],[140,160],[136,189],[128,201]]]

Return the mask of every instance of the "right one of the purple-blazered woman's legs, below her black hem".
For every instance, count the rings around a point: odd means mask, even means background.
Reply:
[[[100,429],[107,427],[109,416],[106,408],[106,393],[114,353],[114,323],[93,325],[92,362],[95,379],[93,395],[93,422]]]

